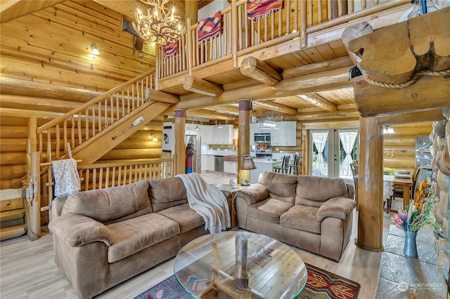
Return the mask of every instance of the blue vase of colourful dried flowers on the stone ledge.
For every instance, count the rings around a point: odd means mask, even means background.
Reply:
[[[425,191],[430,187],[430,195],[425,198]],[[441,225],[436,222],[433,206],[436,202],[436,191],[434,183],[428,184],[428,180],[420,183],[418,191],[414,194],[405,210],[399,210],[397,215],[392,216],[395,226],[405,232],[405,244],[403,253],[411,258],[417,258],[416,237],[417,232],[425,225],[429,225],[434,232],[442,230]]]

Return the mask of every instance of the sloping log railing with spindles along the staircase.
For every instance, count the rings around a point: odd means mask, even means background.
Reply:
[[[146,91],[155,85],[153,73],[151,69],[37,128],[36,150],[46,153],[41,155],[41,163],[62,158],[68,144],[76,152],[79,145],[148,105],[151,101]]]

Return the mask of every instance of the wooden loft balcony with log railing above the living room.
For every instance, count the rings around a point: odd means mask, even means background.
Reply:
[[[363,21],[374,29],[392,25],[411,6],[409,1],[288,0],[279,11],[249,20],[246,3],[231,1],[220,11],[221,31],[209,41],[198,43],[198,23],[188,19],[175,55],[165,57],[163,48],[157,48],[158,89],[181,95],[180,109],[200,108],[200,102],[205,107],[212,98],[224,105],[244,95],[264,100],[352,87],[347,77],[354,62],[342,42],[344,29]],[[325,82],[313,76],[313,81],[299,85],[296,78],[308,73],[298,67],[326,61],[321,76]],[[255,72],[269,74],[244,74],[250,72],[243,70],[248,64]],[[326,73],[328,69],[335,70]],[[254,88],[238,92],[250,86]],[[210,98],[193,101],[195,93]]]

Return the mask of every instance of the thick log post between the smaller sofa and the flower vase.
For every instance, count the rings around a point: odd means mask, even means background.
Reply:
[[[375,117],[359,118],[359,214],[356,245],[383,251],[383,134]]]

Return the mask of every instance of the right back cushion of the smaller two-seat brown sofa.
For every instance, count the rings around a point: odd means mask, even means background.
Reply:
[[[298,175],[295,204],[319,208],[323,201],[333,197],[349,197],[347,185],[342,178],[320,178],[317,176]]]

